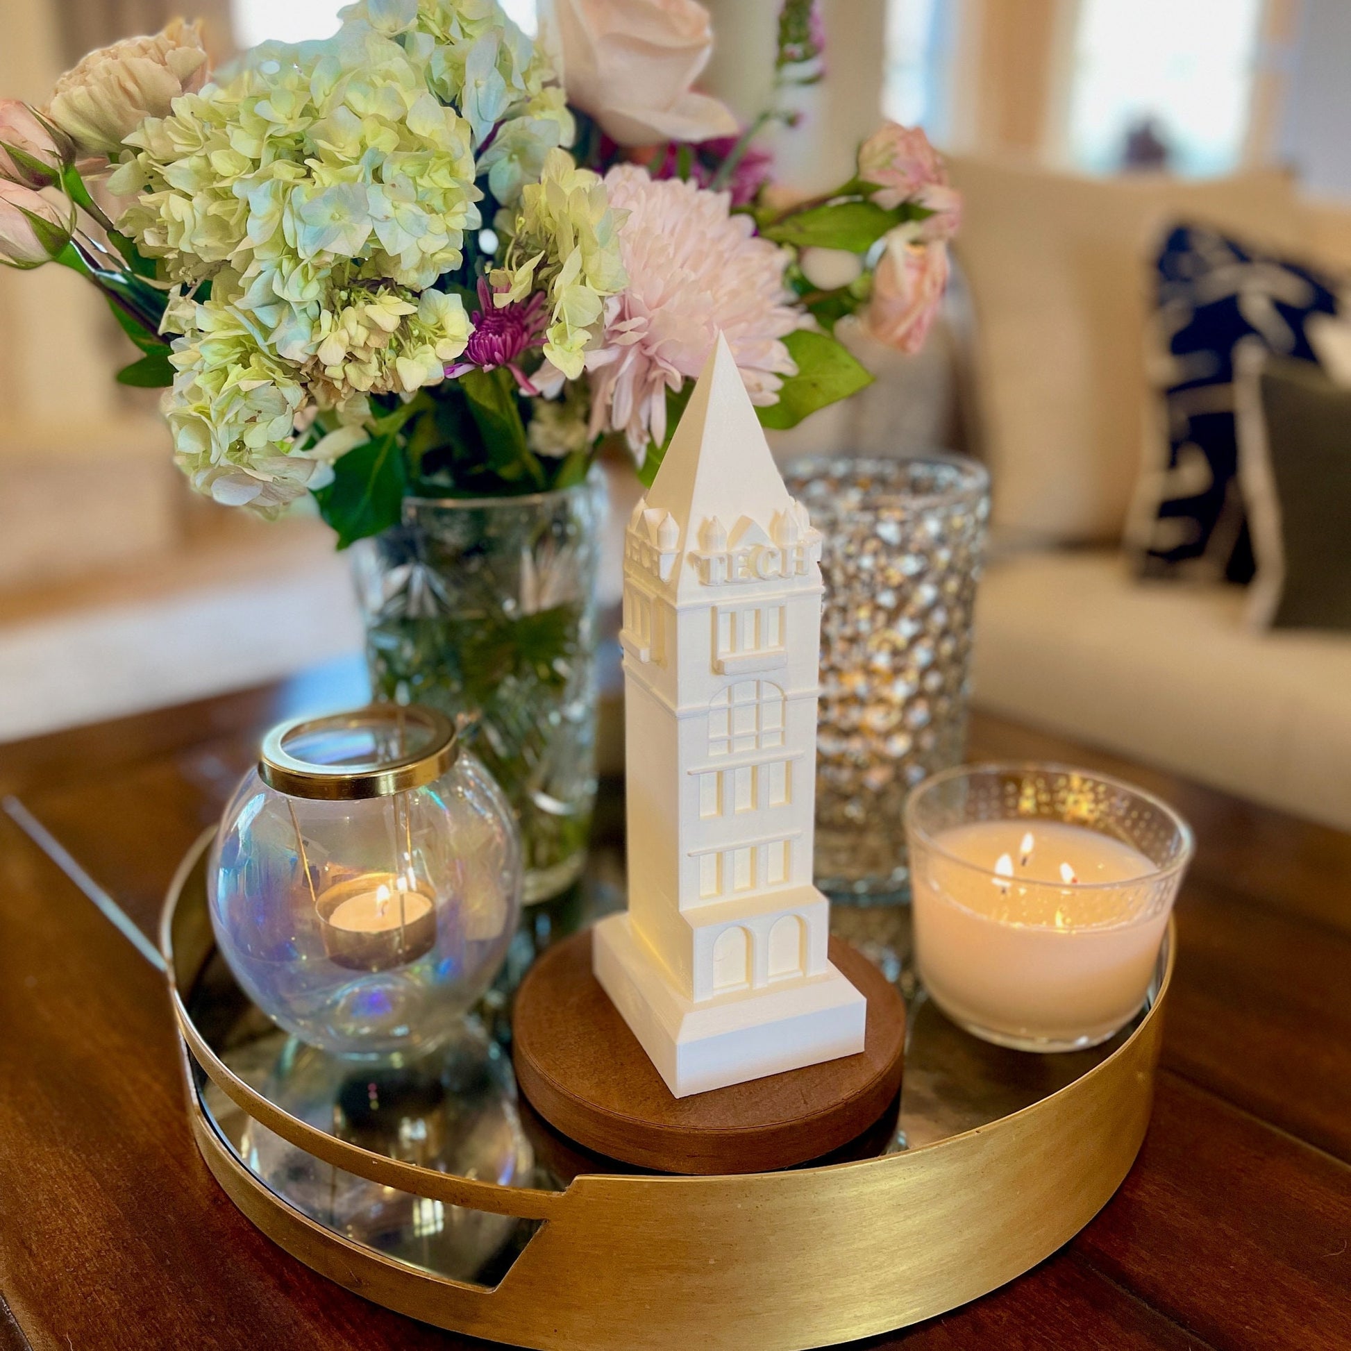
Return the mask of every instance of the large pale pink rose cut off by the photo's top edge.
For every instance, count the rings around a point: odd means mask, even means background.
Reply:
[[[731,111],[692,89],[713,46],[694,0],[554,0],[549,28],[569,103],[619,145],[738,135]]]

